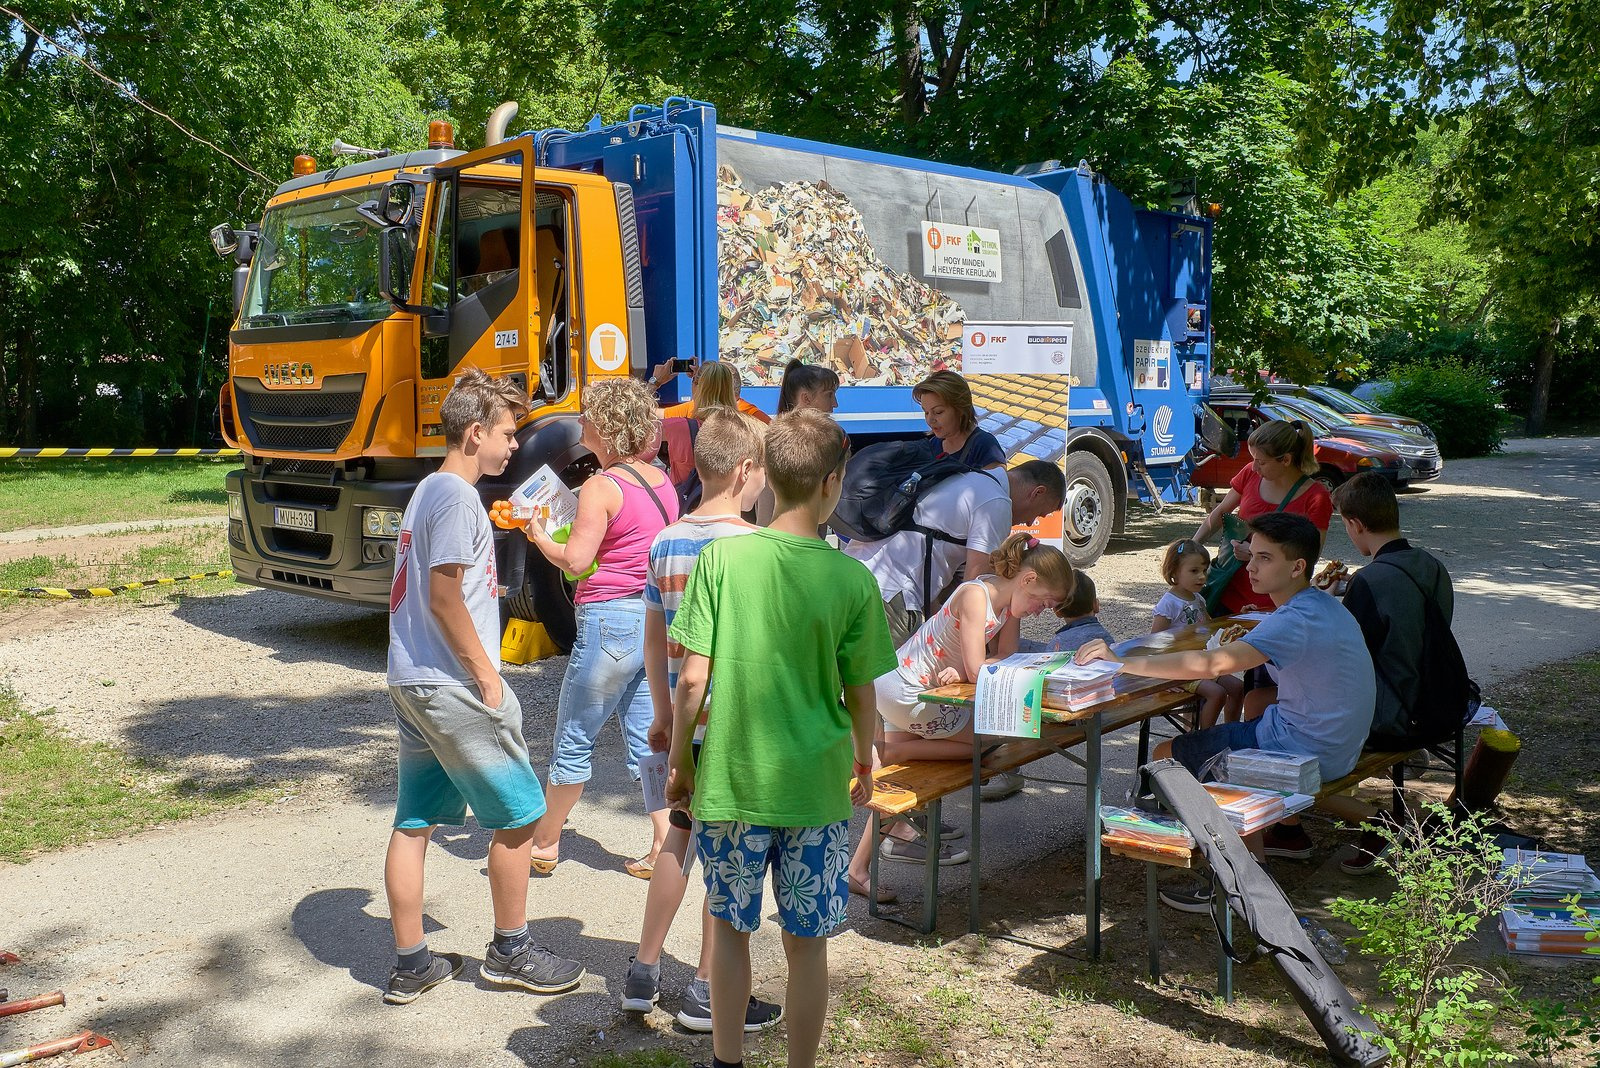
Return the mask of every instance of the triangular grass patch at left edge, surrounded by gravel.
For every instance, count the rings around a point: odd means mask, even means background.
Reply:
[[[250,782],[202,785],[77,742],[0,692],[0,860],[114,838],[258,796]]]

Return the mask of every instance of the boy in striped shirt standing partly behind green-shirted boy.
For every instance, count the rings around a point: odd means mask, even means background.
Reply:
[[[718,537],[734,537],[755,531],[739,513],[755,507],[766,486],[762,438],[765,427],[728,408],[707,414],[694,436],[694,470],[701,478],[701,504],[686,516],[667,526],[650,545],[650,574],[645,580],[645,675],[654,719],[650,724],[650,747],[667,751],[672,740],[672,691],[683,667],[683,646],[667,638],[667,627],[683,600],[683,587],[701,550]],[[706,731],[704,711],[694,729],[694,745]],[[674,817],[680,814],[674,812]],[[645,924],[638,954],[629,964],[622,983],[622,1009],[650,1012],[661,996],[661,950],[672,918],[683,902],[688,886],[686,855],[690,828],[674,823],[656,857],[650,891],[645,895]],[[710,913],[701,907],[699,967],[683,991],[678,1023],[691,1031],[710,1033]],[[760,1031],[782,1018],[782,1009],[750,998],[744,1022],[747,1031]]]

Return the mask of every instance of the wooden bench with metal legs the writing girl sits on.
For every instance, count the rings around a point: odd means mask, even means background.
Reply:
[[[1120,731],[1123,727],[1139,724],[1139,763],[1142,764],[1149,755],[1149,726],[1152,718],[1158,716],[1176,716],[1187,713],[1195,707],[1195,699],[1181,691],[1163,687],[1155,692],[1139,694],[1114,708],[1101,713],[1099,729],[1094,731],[1094,739],[1098,742],[1099,735],[1109,734],[1112,731]],[[907,812],[925,811],[928,819],[926,847],[928,855],[923,860],[923,903],[922,903],[922,921],[918,924],[906,924],[915,927],[922,934],[930,934],[938,923],[939,913],[939,811],[944,798],[960,793],[962,790],[971,795],[971,823],[968,827],[968,863],[973,865],[971,873],[971,892],[968,897],[968,931],[978,931],[978,915],[979,915],[979,863],[982,857],[982,823],[981,823],[981,804],[982,796],[979,795],[979,787],[982,782],[1003,771],[1016,771],[1026,767],[1037,759],[1051,756],[1054,753],[1066,755],[1074,763],[1085,766],[1085,761],[1067,753],[1075,745],[1082,745],[1090,740],[1093,731],[1090,715],[1080,715],[1072,721],[1046,723],[1042,729],[1042,737],[1038,739],[1014,739],[1010,742],[1002,742],[989,748],[989,755],[982,758],[982,764],[978,763],[978,755],[971,761],[957,759],[925,759],[925,761],[907,761],[902,764],[885,764],[874,775],[874,791],[872,801],[867,807],[872,811],[872,835],[874,839],[880,838],[882,823],[885,817],[906,815]],[[1091,788],[1098,793],[1098,769],[1090,771],[1088,779],[1096,779]],[[1098,798],[1096,798],[1098,807]],[[1085,835],[1094,835],[1096,825],[1088,825]],[[1091,839],[1098,843],[1098,839]],[[904,923],[896,916],[888,916],[878,908],[877,892],[878,892],[878,854],[872,852],[872,860],[869,867],[870,876],[867,881],[867,910],[872,916],[890,919],[891,923]],[[1098,875],[1098,873],[1096,873]]]

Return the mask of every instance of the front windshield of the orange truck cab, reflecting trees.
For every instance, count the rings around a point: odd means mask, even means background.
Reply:
[[[355,213],[378,187],[298,200],[261,222],[240,326],[376,321],[394,310],[378,294],[379,229]]]

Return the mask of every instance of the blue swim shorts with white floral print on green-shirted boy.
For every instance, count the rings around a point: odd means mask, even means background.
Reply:
[[[773,870],[778,924],[816,938],[845,923],[850,903],[850,820],[826,827],[694,825],[710,915],[746,934],[762,926],[762,887]]]

